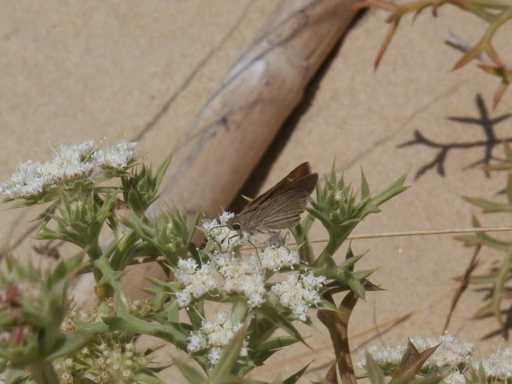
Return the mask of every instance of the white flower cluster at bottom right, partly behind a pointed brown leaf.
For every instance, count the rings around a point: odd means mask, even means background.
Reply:
[[[423,365],[422,372],[429,375],[443,374],[451,372],[442,382],[445,384],[462,384],[465,382],[463,372],[471,364],[471,355],[474,345],[469,342],[457,343],[457,339],[449,334],[441,337],[421,338],[415,337],[411,342],[418,349],[424,351],[438,344],[439,347],[430,356]],[[401,345],[396,348],[391,345],[383,347],[370,347],[362,354],[369,352],[375,362],[385,372],[394,372],[406,352],[406,346]],[[357,367],[366,369],[366,358],[363,358],[356,364]]]

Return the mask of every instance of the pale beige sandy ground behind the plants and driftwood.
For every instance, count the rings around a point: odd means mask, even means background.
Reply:
[[[105,138],[116,143],[142,132],[139,153],[159,164],[273,5],[246,0],[4,2],[0,177],[10,177],[20,161],[45,161],[53,154],[51,145]],[[506,175],[487,175],[479,166],[488,155],[503,158],[502,147],[491,139],[512,138],[511,120],[505,118],[512,94],[505,94],[492,111],[499,80],[475,63],[451,71],[461,53],[444,44],[448,31],[475,43],[485,24],[450,6],[442,7],[437,18],[424,11],[414,24],[407,17],[374,72],[388,28],[385,18],[384,12],[372,10],[357,20],[315,79],[302,115],[278,135],[253,179],[263,180],[265,190],[302,161],[326,174],[335,160],[337,171],[355,188],[362,168],[376,192],[408,173],[411,187],[355,233],[469,227],[472,215],[483,225],[508,225],[505,216],[483,216],[461,198],[505,200],[496,195]],[[504,55],[509,54],[510,25],[498,37],[496,48],[509,62],[511,57]],[[144,131],[173,97],[156,124]],[[422,139],[414,142],[418,135]],[[27,209],[4,210],[3,246],[13,246],[32,218]],[[319,227],[312,235],[326,236]],[[34,244],[27,241],[13,253],[40,258]],[[449,235],[358,240],[352,248],[367,252],[360,268],[378,268],[372,281],[386,289],[368,294],[367,302],[356,307],[352,347],[439,335],[457,287],[453,278],[464,272],[472,249]],[[339,251],[339,260],[345,250]],[[495,256],[484,249],[480,270],[492,265]],[[469,289],[449,327],[450,333],[474,342],[482,356],[509,346],[494,318],[471,319],[485,295]],[[286,377],[313,359],[307,378],[325,374],[332,362],[328,333],[321,324],[306,332],[314,351],[298,347],[278,354],[254,377]],[[358,353],[354,356],[357,360]],[[171,369],[166,377],[174,374]]]

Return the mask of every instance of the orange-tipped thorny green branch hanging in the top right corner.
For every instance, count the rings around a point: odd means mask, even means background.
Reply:
[[[459,69],[475,58],[483,59],[484,62],[479,64],[478,67],[489,74],[501,78],[501,83],[494,94],[493,109],[495,109],[508,84],[512,81],[512,69],[503,63],[498,52],[494,49],[491,40],[496,31],[512,18],[512,4],[510,2],[503,0],[418,0],[408,4],[396,4],[389,0],[363,0],[353,5],[352,8],[380,8],[390,12],[386,22],[390,23],[391,27],[377,54],[375,60],[375,68],[377,68],[398,28],[402,16],[415,12],[414,17],[416,17],[422,10],[428,7],[431,7],[432,14],[437,16],[438,9],[445,4],[452,4],[488,23],[487,30],[480,41],[474,46],[467,46],[465,42],[454,41],[454,44],[463,49],[465,53],[455,63],[453,69]]]

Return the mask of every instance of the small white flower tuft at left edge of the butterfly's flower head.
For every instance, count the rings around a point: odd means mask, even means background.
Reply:
[[[199,298],[207,292],[217,288],[217,279],[212,276],[214,268],[210,263],[198,269],[194,259],[179,259],[176,280],[184,286],[181,292],[176,293],[178,305],[186,307],[191,298]]]

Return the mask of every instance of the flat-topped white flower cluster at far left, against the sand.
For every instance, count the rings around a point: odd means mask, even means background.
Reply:
[[[136,145],[123,141],[104,151],[95,149],[93,140],[61,145],[51,161],[19,164],[16,173],[0,184],[0,191],[8,198],[24,198],[40,194],[57,181],[90,176],[100,168],[123,168],[135,157]]]

